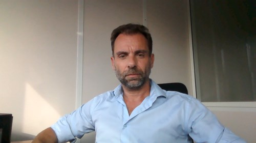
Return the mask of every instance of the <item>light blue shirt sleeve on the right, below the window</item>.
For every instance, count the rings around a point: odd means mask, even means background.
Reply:
[[[242,138],[225,128],[207,107],[198,100],[189,103],[188,132],[196,142],[241,142]]]

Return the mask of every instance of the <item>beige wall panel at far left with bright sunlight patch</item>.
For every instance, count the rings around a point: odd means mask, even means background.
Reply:
[[[75,109],[78,1],[0,1],[0,112],[12,141]]]

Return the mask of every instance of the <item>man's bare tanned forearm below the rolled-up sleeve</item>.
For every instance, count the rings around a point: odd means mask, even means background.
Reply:
[[[57,143],[58,139],[52,128],[41,131],[32,141],[32,143]]]

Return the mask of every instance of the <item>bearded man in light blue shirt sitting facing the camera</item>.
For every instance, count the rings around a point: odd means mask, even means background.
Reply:
[[[112,67],[121,84],[39,133],[33,142],[67,142],[96,131],[96,142],[245,142],[197,99],[164,91],[149,78],[152,38],[139,24],[111,35]]]

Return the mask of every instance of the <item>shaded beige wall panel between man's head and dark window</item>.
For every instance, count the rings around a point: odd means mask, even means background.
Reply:
[[[182,82],[192,95],[186,1],[147,1],[157,83]]]

